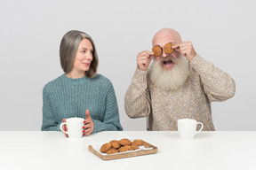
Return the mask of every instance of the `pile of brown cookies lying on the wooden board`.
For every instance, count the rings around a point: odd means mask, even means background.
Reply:
[[[113,154],[124,151],[134,151],[140,149],[139,146],[143,145],[143,141],[140,139],[135,139],[130,141],[129,139],[121,139],[119,141],[112,140],[109,143],[104,143],[100,147],[101,153]]]

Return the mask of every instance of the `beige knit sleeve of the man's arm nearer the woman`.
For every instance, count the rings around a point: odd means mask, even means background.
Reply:
[[[124,97],[124,109],[130,118],[147,117],[151,111],[147,71],[136,69]]]

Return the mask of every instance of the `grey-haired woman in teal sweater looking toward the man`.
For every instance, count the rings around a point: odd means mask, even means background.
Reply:
[[[59,131],[71,117],[84,118],[84,135],[123,130],[112,83],[97,74],[98,55],[90,35],[72,30],[60,42],[65,73],[43,89],[43,131]],[[86,114],[86,115],[85,115]]]

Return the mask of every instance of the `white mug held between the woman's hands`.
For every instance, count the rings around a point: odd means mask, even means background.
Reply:
[[[67,125],[68,131],[65,132],[62,129],[62,125]],[[68,134],[69,138],[80,138],[83,136],[83,126],[84,119],[83,118],[68,118],[66,122],[60,124],[60,130]]]

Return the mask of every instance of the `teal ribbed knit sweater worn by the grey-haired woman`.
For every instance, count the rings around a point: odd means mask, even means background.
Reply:
[[[123,130],[111,81],[97,74],[93,78],[70,79],[65,73],[43,89],[42,131],[60,131],[64,118],[84,118],[89,110],[94,123],[92,133]]]

